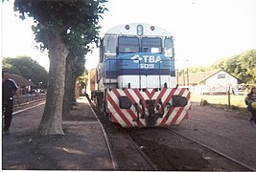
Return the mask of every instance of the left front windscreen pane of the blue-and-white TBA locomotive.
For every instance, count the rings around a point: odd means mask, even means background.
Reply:
[[[138,37],[125,37],[118,38],[118,51],[119,53],[137,53],[139,52],[139,38]]]

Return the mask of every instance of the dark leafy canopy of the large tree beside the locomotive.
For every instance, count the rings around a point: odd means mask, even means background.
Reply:
[[[98,26],[101,13],[104,13],[105,0],[15,0],[14,10],[20,18],[35,19],[32,27],[40,50],[49,48],[49,32],[60,32],[69,51],[86,54],[90,42],[98,42]],[[81,45],[81,46],[77,46]]]

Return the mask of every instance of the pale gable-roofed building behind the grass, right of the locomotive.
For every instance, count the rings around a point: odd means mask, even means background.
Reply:
[[[184,74],[177,77],[179,86],[187,86],[191,92],[198,94],[226,94],[235,91],[238,78],[223,70]]]

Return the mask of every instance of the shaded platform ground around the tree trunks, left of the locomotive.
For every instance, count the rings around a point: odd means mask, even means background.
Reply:
[[[44,104],[13,113],[10,135],[2,134],[3,170],[116,170],[105,133],[86,97],[78,98],[65,135],[36,136]]]

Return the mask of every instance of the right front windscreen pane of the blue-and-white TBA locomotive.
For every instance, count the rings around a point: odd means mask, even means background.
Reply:
[[[159,37],[143,37],[142,38],[142,52],[159,54],[161,53],[161,38]]]

